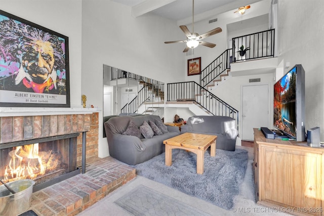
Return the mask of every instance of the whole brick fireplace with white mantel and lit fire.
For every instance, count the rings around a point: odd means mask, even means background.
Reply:
[[[98,155],[98,112],[93,113],[92,110],[84,108],[57,111],[33,108],[24,113],[29,115],[21,115],[14,108],[2,109],[0,178],[6,180],[5,182],[15,181],[17,178],[33,179],[36,182],[33,187],[35,192],[80,172],[85,173],[86,157]],[[35,156],[37,152],[42,159]],[[29,154],[32,156],[26,156]],[[15,160],[11,155],[14,155]],[[59,158],[60,161],[49,162],[53,158]],[[22,167],[17,169],[18,163]],[[54,165],[56,168],[50,171],[48,166],[56,163],[59,164]],[[14,170],[15,173],[6,173],[6,169],[7,172]],[[28,170],[36,170],[37,175],[30,174]],[[22,177],[22,173],[26,175]]]

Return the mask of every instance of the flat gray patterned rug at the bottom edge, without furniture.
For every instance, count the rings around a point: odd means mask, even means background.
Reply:
[[[114,203],[134,215],[209,215],[143,185],[120,197]]]

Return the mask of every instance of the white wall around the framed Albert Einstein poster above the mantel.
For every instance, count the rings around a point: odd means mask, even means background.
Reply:
[[[81,106],[82,3],[77,0],[1,0],[1,10],[69,38],[70,104]],[[23,108],[22,108],[23,110]]]

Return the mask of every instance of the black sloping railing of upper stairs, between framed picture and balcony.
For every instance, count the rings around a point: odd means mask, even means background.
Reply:
[[[212,63],[210,63],[200,73],[200,85],[206,87],[216,77],[220,76],[225,70],[230,69],[230,57],[232,49],[225,50]]]

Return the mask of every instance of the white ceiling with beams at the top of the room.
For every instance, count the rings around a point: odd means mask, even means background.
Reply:
[[[192,22],[191,0],[112,0],[132,7],[134,17],[146,13],[177,21],[179,25]],[[200,21],[239,7],[251,5],[261,0],[196,0],[194,2],[194,21]]]

